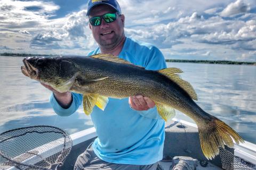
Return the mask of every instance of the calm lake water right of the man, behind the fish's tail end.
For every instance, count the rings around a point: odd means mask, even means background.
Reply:
[[[256,67],[248,65],[219,65],[167,63],[179,67],[182,78],[195,88],[198,101],[205,112],[230,125],[245,140],[256,143]],[[178,112],[177,117],[194,122]]]

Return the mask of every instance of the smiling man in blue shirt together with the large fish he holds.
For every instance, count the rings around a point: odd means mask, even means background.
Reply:
[[[166,68],[158,48],[125,37],[124,15],[115,0],[89,1],[87,15],[99,45],[90,57],[26,57],[21,66],[24,75],[53,91],[50,100],[58,115],[69,116],[82,103],[91,114],[98,138],[74,169],[156,169],[163,157],[164,121],[174,109],[197,124],[207,159],[224,145],[234,147],[233,140],[244,142],[195,103],[191,84],[179,77],[180,69]]]

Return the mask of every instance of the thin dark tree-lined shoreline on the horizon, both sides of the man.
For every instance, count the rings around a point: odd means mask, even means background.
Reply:
[[[19,54],[19,53],[1,53],[0,56],[12,56],[12,57],[28,57],[28,56],[56,56],[45,54]],[[199,63],[199,64],[234,64],[234,65],[256,65],[256,62],[236,62],[226,60],[177,60],[166,59],[166,62],[172,63]]]

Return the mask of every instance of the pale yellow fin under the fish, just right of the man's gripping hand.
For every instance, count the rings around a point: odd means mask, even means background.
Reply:
[[[165,120],[169,120],[169,118],[173,118],[175,116],[174,108],[162,104],[156,103],[156,108],[158,114]]]

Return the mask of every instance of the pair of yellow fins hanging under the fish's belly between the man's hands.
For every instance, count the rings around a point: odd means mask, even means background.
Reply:
[[[99,96],[97,94],[84,94],[83,96],[84,113],[86,115],[90,115],[92,113],[92,109],[95,105],[104,111],[107,104],[107,97]]]

